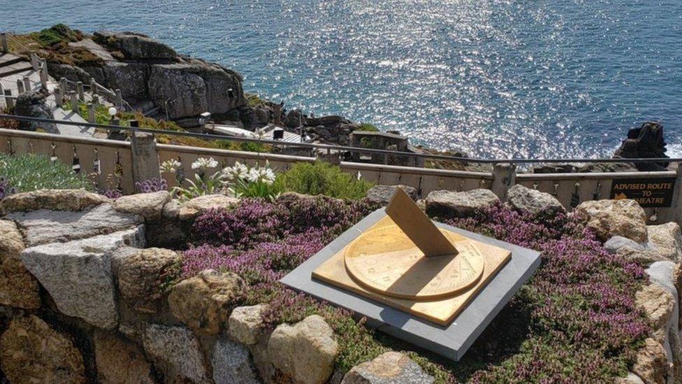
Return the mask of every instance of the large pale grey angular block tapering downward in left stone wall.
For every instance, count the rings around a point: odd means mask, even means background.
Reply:
[[[140,231],[130,229],[35,246],[24,250],[21,259],[50,293],[61,313],[82,318],[96,327],[113,329],[118,324],[118,313],[111,255],[122,246],[144,246]]]

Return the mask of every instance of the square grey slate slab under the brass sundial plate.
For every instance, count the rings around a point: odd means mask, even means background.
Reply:
[[[371,213],[329,243],[319,253],[284,276],[281,280],[282,283],[354,311],[358,316],[365,316],[369,327],[376,327],[379,331],[414,343],[416,346],[426,348],[451,360],[460,360],[481,332],[495,318],[495,315],[502,310],[509,299],[512,299],[516,291],[540,265],[540,255],[534,250],[514,246],[504,241],[491,239],[449,225],[435,223],[438,227],[512,252],[512,258],[500,269],[495,278],[478,292],[450,325],[445,327],[312,278],[312,271],[317,266],[347,246],[384,215],[386,213],[384,213],[383,208]]]

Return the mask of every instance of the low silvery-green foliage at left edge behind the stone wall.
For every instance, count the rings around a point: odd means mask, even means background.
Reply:
[[[94,185],[87,175],[74,173],[71,166],[52,162],[45,155],[0,154],[0,176],[6,178],[17,192],[52,189],[85,189],[92,191]]]

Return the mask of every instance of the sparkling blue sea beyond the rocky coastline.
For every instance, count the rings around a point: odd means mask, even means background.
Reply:
[[[484,157],[682,155],[682,0],[0,0],[0,30],[140,31],[316,115]]]

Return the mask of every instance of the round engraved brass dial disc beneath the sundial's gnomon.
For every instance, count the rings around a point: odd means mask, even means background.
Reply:
[[[442,299],[472,287],[483,275],[484,259],[472,243],[460,243],[458,251],[425,257],[397,225],[387,225],[349,244],[344,263],[351,278],[369,290],[401,299]]]

